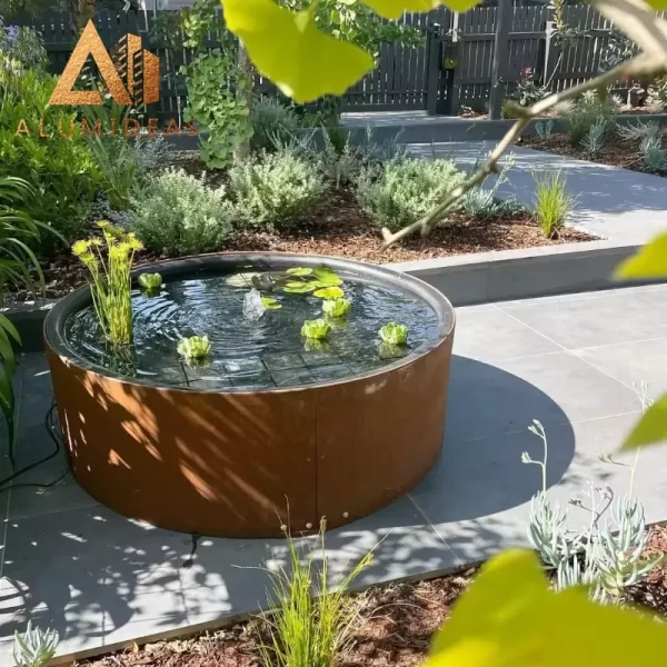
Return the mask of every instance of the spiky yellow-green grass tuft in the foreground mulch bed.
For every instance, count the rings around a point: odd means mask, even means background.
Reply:
[[[325,519],[316,546],[300,558],[286,529],[289,571],[270,571],[275,607],[262,618],[269,641],[259,643],[263,667],[334,667],[349,649],[352,630],[364,607],[364,596],[349,594],[351,583],[372,563],[368,552],[335,589],[329,588]],[[321,563],[313,559],[321,551]]]

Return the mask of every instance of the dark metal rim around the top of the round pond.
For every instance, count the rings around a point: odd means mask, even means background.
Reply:
[[[169,385],[161,381],[156,381],[149,377],[131,377],[121,372],[113,371],[100,364],[94,364],[83,358],[67,340],[64,335],[64,326],[68,318],[83,308],[91,305],[89,287],[81,287],[71,295],[68,295],[51,309],[44,321],[44,341],[52,351],[62,359],[74,364],[86,371],[94,372],[117,379],[128,385],[140,385],[146,387],[166,388],[170,391],[188,391],[202,394],[257,394],[262,391],[283,392],[299,391],[308,388],[320,387],[326,385],[345,384],[351,380],[364,379],[395,370],[401,366],[414,362],[419,357],[428,354],[434,347],[447,339],[456,323],[454,307],[449,300],[436,288],[431,287],[424,280],[402,273],[386,267],[369,265],[360,261],[326,257],[320,255],[299,255],[287,252],[218,252],[210,255],[201,255],[186,257],[182,259],[168,259],[158,261],[151,265],[142,266],[140,269],[132,271],[132,282],[139,273],[159,272],[167,282],[173,279],[182,279],[183,277],[199,277],[206,273],[220,275],[226,269],[229,272],[238,271],[239,269],[248,271],[271,271],[285,270],[295,266],[303,267],[326,267],[335,271],[348,272],[368,277],[377,280],[379,283],[402,290],[425,301],[438,317],[438,329],[434,338],[416,349],[406,357],[401,357],[396,361],[388,361],[385,366],[367,372],[350,375],[348,377],[319,380],[308,385],[293,385],[287,387],[266,387],[259,389],[243,388],[203,388],[203,387],[183,387],[178,385]]]

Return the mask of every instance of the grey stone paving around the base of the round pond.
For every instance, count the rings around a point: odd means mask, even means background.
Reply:
[[[532,419],[547,429],[548,484],[561,502],[581,498],[589,479],[625,492],[627,468],[599,455],[618,447],[640,414],[634,382],[648,380],[651,395],[667,389],[666,299],[667,286],[650,286],[458,309],[442,456],[410,494],[328,534],[332,570],[376,546],[359,581],[369,585],[526,545],[540,484],[539,469],[520,462],[522,451],[541,456],[526,430]],[[43,356],[23,360],[20,382],[24,464],[52,447]],[[22,481],[64,469],[60,455]],[[666,480],[664,448],[643,452],[636,488],[649,521],[667,519]],[[193,540],[112,512],[69,477],[0,494],[0,511],[1,664],[28,618],[54,627],[68,654],[251,613],[266,601],[265,568],[286,563],[282,540]],[[570,519],[580,525],[588,515],[573,507]]]

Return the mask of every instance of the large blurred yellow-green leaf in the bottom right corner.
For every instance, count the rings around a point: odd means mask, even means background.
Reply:
[[[667,626],[647,615],[598,605],[578,588],[551,591],[537,556],[511,550],[464,593],[425,667],[651,665],[665,641]]]

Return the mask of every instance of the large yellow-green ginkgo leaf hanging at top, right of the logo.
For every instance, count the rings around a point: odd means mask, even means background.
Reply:
[[[242,40],[255,67],[297,102],[344,94],[374,67],[364,49],[318,30],[315,3],[298,12],[273,0],[222,4],[227,27]]]

